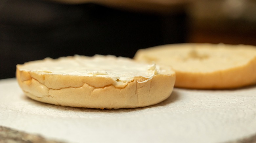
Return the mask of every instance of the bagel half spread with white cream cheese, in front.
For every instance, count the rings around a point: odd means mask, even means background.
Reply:
[[[173,90],[170,67],[116,56],[46,58],[16,66],[24,93],[37,101],[87,108],[135,108],[160,103]]]

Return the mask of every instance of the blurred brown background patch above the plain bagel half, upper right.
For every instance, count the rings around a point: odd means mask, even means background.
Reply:
[[[200,0],[188,13],[188,42],[256,45],[256,0]]]

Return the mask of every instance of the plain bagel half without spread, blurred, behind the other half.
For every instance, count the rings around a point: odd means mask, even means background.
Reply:
[[[256,83],[256,46],[251,45],[169,44],[140,49],[134,59],[171,66],[175,87],[228,89]]]

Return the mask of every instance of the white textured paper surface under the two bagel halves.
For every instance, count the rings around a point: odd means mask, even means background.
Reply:
[[[0,80],[0,93],[0,125],[67,142],[217,143],[256,133],[256,86],[175,88],[157,105],[112,110],[36,102],[15,79]]]

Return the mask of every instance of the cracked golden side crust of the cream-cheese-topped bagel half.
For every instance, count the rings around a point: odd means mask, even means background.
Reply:
[[[124,87],[111,78],[43,74],[20,70],[16,78],[24,93],[37,101],[63,106],[87,108],[135,108],[160,103],[167,99],[175,83],[175,72],[147,78],[135,77]],[[167,68],[168,69],[168,68]]]

